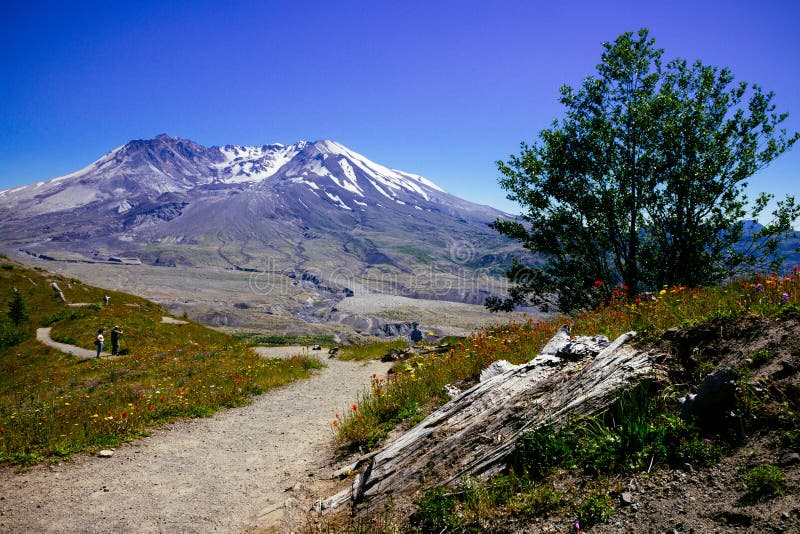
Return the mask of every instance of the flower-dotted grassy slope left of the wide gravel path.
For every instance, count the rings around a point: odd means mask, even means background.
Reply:
[[[207,417],[309,376],[314,359],[265,360],[245,343],[197,324],[162,324],[157,304],[21,265],[0,270],[0,338],[16,287],[29,321],[0,348],[0,462],[35,464],[114,446],[182,417]],[[97,306],[67,307],[69,302]],[[103,296],[110,306],[99,305]],[[6,302],[3,302],[5,300]],[[92,349],[98,328],[125,331],[118,359],[80,360],[38,343],[36,328]],[[12,336],[13,337],[13,336]],[[110,348],[110,347],[109,347]]]

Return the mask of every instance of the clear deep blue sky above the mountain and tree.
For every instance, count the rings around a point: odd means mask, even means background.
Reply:
[[[649,4],[649,5],[646,5]],[[335,139],[515,211],[494,162],[561,114],[603,41],[774,90],[800,130],[794,1],[0,2],[0,188],[166,132],[204,145]],[[800,147],[751,180],[792,193]]]

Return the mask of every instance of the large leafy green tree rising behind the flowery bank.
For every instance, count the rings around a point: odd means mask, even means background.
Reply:
[[[490,297],[490,309],[573,311],[618,286],[712,284],[780,261],[780,239],[800,216],[787,197],[741,246],[743,219],[772,199],[751,203],[745,180],[798,139],[779,129],[787,114],[775,112],[773,93],[734,83],[728,69],[664,65],[647,30],[603,47],[596,76],[562,87],[565,116],[498,162],[523,213],[492,226],[541,259],[514,262],[509,298]]]

